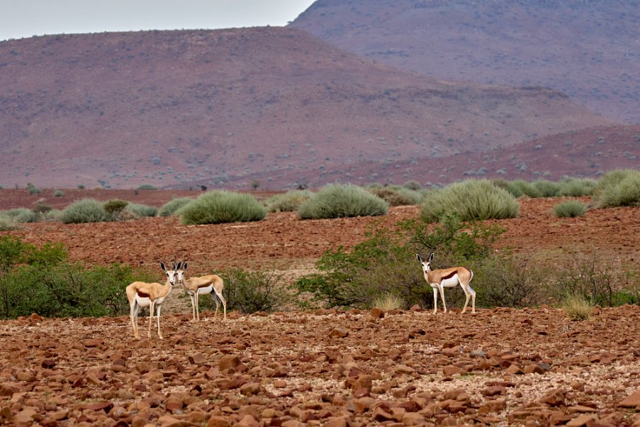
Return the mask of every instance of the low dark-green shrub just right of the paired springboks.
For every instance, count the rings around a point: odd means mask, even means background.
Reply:
[[[278,311],[288,301],[283,277],[275,272],[248,272],[240,268],[221,274],[228,311]],[[200,298],[201,307],[215,309],[213,298]]]

